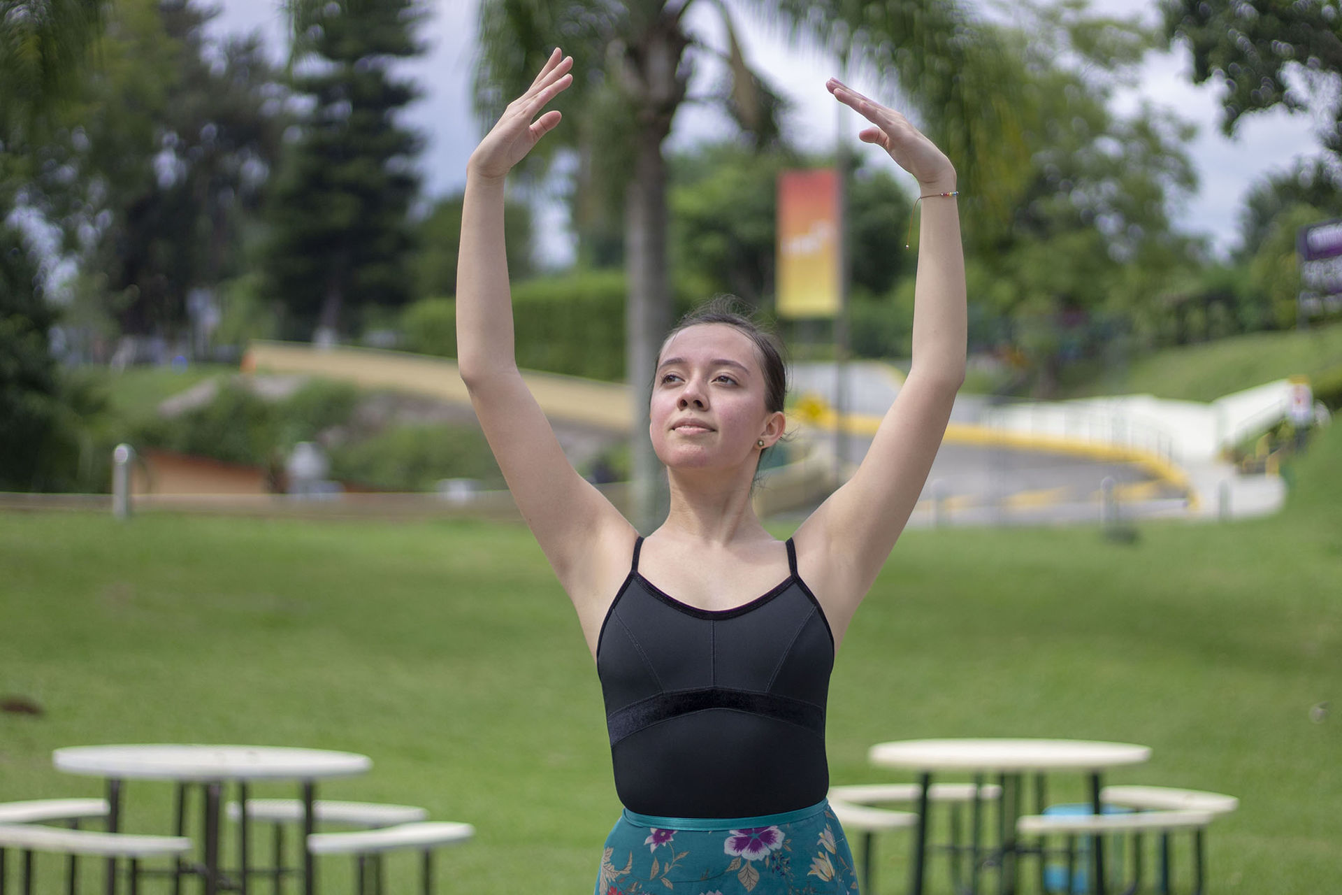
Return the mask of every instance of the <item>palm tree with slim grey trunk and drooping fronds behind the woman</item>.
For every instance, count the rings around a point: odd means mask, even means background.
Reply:
[[[561,46],[577,78],[556,106],[576,126],[556,137],[580,146],[599,180],[623,188],[628,305],[625,374],[635,384],[633,521],[654,519],[658,462],[641,433],[659,337],[670,327],[667,166],[662,146],[687,101],[691,67],[709,52],[686,25],[696,0],[480,0],[475,99],[493,123]],[[768,126],[769,91],[742,60],[725,0],[734,86],[729,107],[745,127]],[[1012,133],[1005,93],[1011,66],[957,0],[737,0],[781,24],[796,43],[832,52],[841,66],[866,62],[906,89],[929,121],[929,136],[960,160],[961,189],[997,197],[1020,172],[1024,144]],[[701,3],[702,5],[702,3]],[[884,85],[891,86],[891,85]],[[560,141],[554,141],[556,144]],[[550,152],[554,146],[552,145]],[[603,158],[603,162],[597,162]],[[985,203],[985,204],[992,204]],[[581,217],[581,215],[580,215]]]

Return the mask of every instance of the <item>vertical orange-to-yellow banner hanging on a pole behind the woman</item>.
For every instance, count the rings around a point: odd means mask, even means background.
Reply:
[[[778,174],[778,317],[837,317],[843,306],[839,173]]]

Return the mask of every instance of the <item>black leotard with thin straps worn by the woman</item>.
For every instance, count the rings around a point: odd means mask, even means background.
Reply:
[[[629,810],[750,817],[829,788],[825,696],[833,635],[790,574],[745,605],[686,605],[639,574],[639,549],[597,637],[615,789]]]

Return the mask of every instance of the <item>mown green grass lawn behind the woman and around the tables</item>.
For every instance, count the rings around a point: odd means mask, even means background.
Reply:
[[[1151,761],[1110,782],[1241,800],[1210,835],[1212,891],[1333,891],[1339,462],[1334,427],[1286,514],[1145,523],[1135,545],[1090,527],[906,533],[837,656],[832,780],[898,778],[866,764],[886,739],[1145,743]],[[323,796],[475,824],[444,852],[442,891],[590,891],[619,812],[601,694],[521,527],[4,515],[0,620],[0,694],[44,710],[0,714],[0,801],[99,794],[52,769],[58,746],[345,749],[373,770]],[[1333,714],[1311,719],[1325,702]],[[1051,794],[1079,798],[1079,778],[1056,776]],[[166,831],[168,785],[130,784],[127,810],[130,828]],[[906,849],[882,841],[880,891],[905,891]],[[348,891],[346,865],[323,861],[325,891]],[[412,861],[392,870],[392,891],[411,891]]]

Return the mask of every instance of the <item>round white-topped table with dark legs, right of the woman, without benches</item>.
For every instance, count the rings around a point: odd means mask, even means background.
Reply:
[[[931,786],[931,777],[937,772],[958,770],[976,776],[976,782],[982,782],[982,776],[988,773],[1000,774],[1001,802],[998,808],[1001,821],[1001,843],[1004,860],[998,868],[1002,874],[1001,891],[1015,891],[1015,856],[1016,817],[1020,816],[1020,777],[1025,773],[1036,774],[1036,801],[1039,810],[1044,809],[1044,772],[1078,770],[1090,780],[1091,809],[1098,814],[1102,810],[1099,792],[1100,777],[1110,768],[1126,765],[1139,765],[1151,757],[1147,746],[1134,743],[1111,743],[1088,739],[905,739],[898,742],[876,743],[868,753],[868,761],[878,768],[899,768],[913,770],[922,784],[922,797],[918,804],[918,828],[914,840],[913,895],[922,895],[923,875],[927,844],[927,792]],[[976,812],[978,804],[976,802]],[[977,835],[978,817],[974,820],[974,867],[972,874],[977,882]],[[1007,860],[1011,856],[1012,872],[1007,874]],[[1091,856],[1094,859],[1094,874],[1096,892],[1103,895],[1104,879],[1102,874],[1103,853],[1099,837],[1091,840]]]

